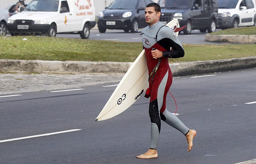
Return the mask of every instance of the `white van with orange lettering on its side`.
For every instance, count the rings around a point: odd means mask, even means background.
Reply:
[[[34,34],[80,34],[89,38],[96,24],[93,0],[33,0],[20,13],[8,19],[12,36]]]

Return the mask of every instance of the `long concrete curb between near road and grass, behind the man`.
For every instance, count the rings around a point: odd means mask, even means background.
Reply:
[[[126,73],[132,62],[75,62],[0,59],[0,72],[12,73]],[[256,57],[169,64],[173,76],[204,74],[256,67]]]

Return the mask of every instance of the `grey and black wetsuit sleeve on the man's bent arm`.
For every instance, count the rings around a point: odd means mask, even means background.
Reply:
[[[170,50],[171,47],[173,49],[172,51],[162,51],[163,57],[181,58],[185,55],[182,44],[172,29],[169,27],[162,28],[158,34],[160,34],[161,38],[157,43],[166,50]]]

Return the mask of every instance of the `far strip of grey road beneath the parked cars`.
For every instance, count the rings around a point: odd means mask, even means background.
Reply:
[[[125,33],[123,30],[107,30],[105,33],[99,33],[98,30],[91,30],[89,39],[92,40],[113,40],[118,42],[141,42],[140,32],[142,29],[139,29],[137,33]],[[219,31],[217,29],[216,31]],[[184,35],[181,32],[178,35],[182,44],[223,44],[223,43],[213,43],[206,42],[205,35],[207,32],[200,32],[199,30],[192,30],[191,35]],[[77,38],[80,39],[79,34],[57,34],[56,37],[60,38]]]

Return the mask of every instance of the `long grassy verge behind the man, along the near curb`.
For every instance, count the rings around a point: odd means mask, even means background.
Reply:
[[[170,63],[256,56],[255,44],[183,44],[183,47],[184,58],[170,59]],[[140,42],[35,36],[0,37],[0,59],[133,62],[141,51]]]

